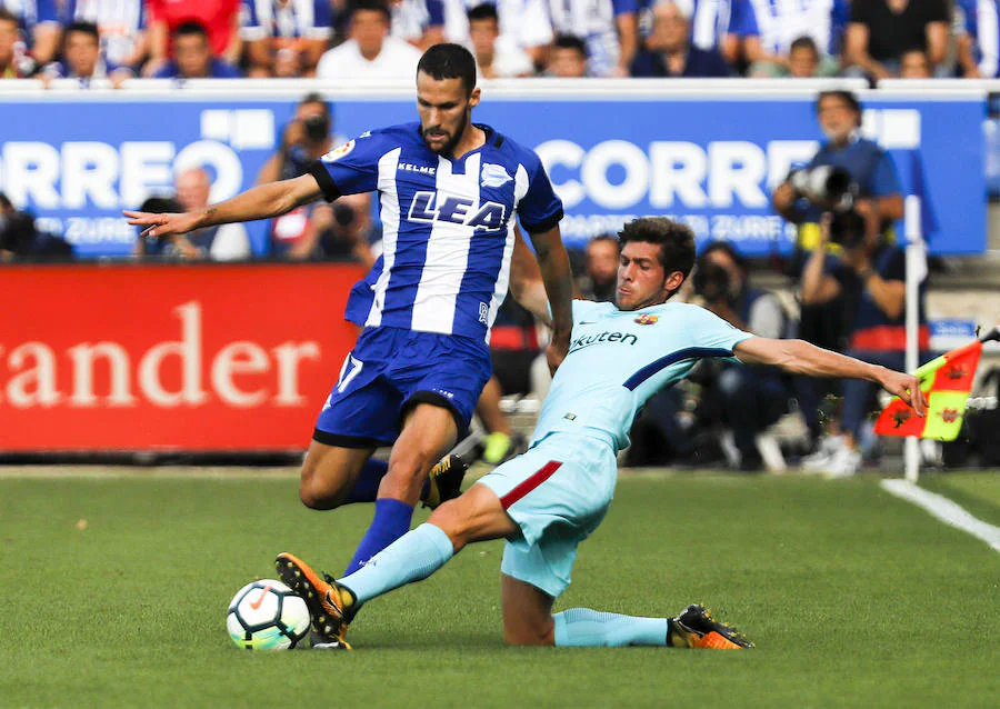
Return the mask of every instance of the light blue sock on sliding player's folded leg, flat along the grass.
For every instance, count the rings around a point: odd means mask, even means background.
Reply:
[[[627,645],[667,645],[666,618],[637,618],[570,608],[553,616],[556,646],[620,648]]]

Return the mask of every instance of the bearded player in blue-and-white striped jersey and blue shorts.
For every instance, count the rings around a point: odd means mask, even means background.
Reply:
[[[437,44],[417,71],[419,123],[366,132],[308,174],[199,212],[124,212],[144,228],[142,236],[162,238],[272,218],[320,196],[378,190],[384,251],[347,308],[364,330],[319,416],[300,487],[302,501],[316,509],[378,498],[349,572],[406,533],[418,499],[437,505],[458,493],[457,485],[443,490],[424,481],[468,427],[490,377],[487,340],[510,279],[514,212],[549,293],[550,366],[569,349],[572,279],[559,234],[562,203],[534,152],[471,122],[480,98],[474,86],[472,54]],[[393,442],[387,471],[370,457]]]

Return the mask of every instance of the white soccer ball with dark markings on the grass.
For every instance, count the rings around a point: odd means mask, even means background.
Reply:
[[[290,650],[309,635],[309,608],[281,581],[252,581],[232,597],[226,628],[239,648]]]

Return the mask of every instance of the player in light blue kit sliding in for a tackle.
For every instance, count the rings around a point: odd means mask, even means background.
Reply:
[[[754,337],[698,306],[667,302],[694,263],[694,236],[666,218],[643,218],[619,234],[617,307],[576,301],[569,354],[556,372],[527,453],[484,476],[439,507],[427,523],[389,546],[359,571],[326,582],[290,553],[276,566],[286,583],[322,598],[313,618],[331,648],[349,648],[342,619],[377,596],[419,581],[466,545],[504,538],[503,632],[517,645],[661,645],[737,649],[751,643],[701,607],[676,618],[634,618],[574,608],[552,615],[570,582],[577,546],[603,519],[638,410],[698,362],[737,358],[797,375],[852,377],[881,385],[923,416],[916,377],[868,365],[801,340]],[[529,289],[530,290],[530,289]],[[536,283],[526,304],[540,317]],[[911,392],[913,398],[911,401]]]

